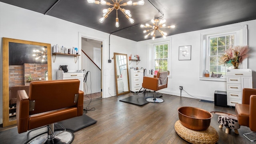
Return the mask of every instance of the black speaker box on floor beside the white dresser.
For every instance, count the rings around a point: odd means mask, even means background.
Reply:
[[[214,92],[214,105],[228,107],[227,92],[215,90]]]

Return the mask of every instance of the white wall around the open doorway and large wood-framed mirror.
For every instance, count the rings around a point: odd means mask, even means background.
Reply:
[[[79,50],[79,33],[87,34],[104,41],[103,46],[103,94],[102,97],[109,97],[115,94],[114,62],[108,63],[108,38],[109,34],[74,24],[52,16],[40,14],[9,4],[0,2],[0,83],[2,84],[2,37],[29,40],[35,42],[49,43],[52,46],[77,47]],[[129,54],[135,50],[136,42],[110,36],[110,58],[114,52]],[[81,54],[81,51],[79,52]],[[57,56],[52,62],[52,79],[56,80],[56,70],[59,65],[68,65],[68,70],[81,69],[81,57],[75,64],[74,57]],[[106,88],[110,86],[110,94]],[[2,123],[2,86],[0,87],[0,123]]]

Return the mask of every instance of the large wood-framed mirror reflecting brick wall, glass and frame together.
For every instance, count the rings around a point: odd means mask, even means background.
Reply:
[[[17,90],[31,81],[52,80],[51,44],[12,38],[2,39],[3,127],[16,124]]]

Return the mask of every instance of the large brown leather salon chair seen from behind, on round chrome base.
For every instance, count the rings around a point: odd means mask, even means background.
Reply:
[[[54,123],[82,116],[84,92],[79,90],[80,80],[48,80],[30,82],[29,94],[17,92],[18,133],[47,127],[48,132],[28,143],[65,144],[74,140],[72,132],[56,130]]]

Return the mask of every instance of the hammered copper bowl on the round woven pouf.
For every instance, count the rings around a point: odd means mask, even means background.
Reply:
[[[191,130],[207,130],[212,114],[206,110],[194,107],[178,108],[180,123]]]

